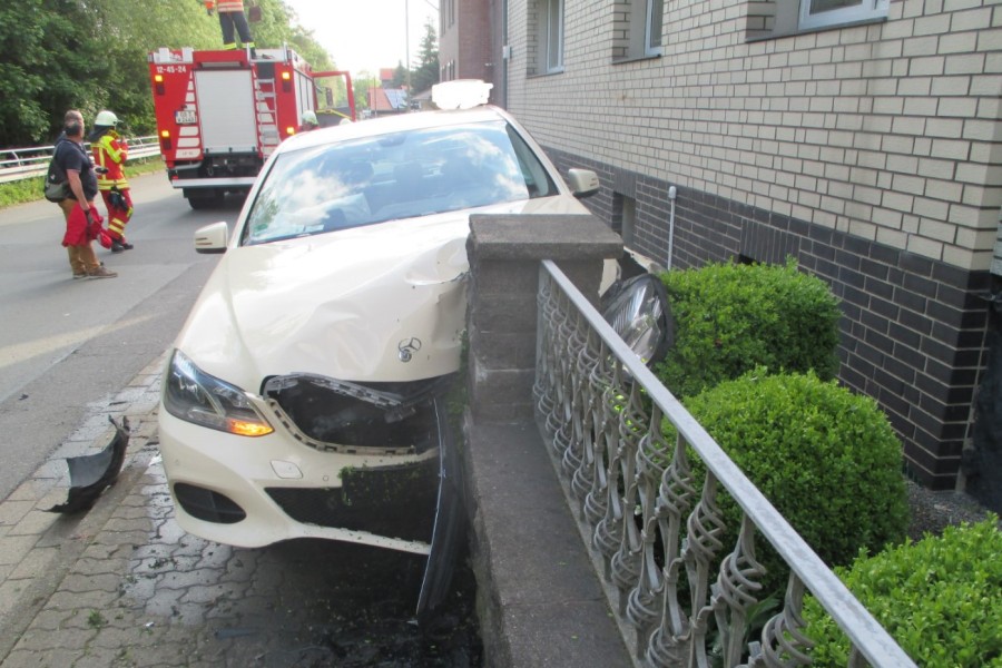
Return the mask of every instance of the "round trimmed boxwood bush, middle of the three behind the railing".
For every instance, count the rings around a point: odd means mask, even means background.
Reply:
[[[901,444],[872,399],[813,373],[759,369],[690,397],[686,407],[829,566],[904,539]],[[675,429],[665,425],[671,443]],[[692,464],[701,480],[695,454]],[[730,551],[740,509],[726,493],[720,508]],[[769,571],[764,593],[785,587],[789,571],[764,540],[756,541],[756,556]]]

